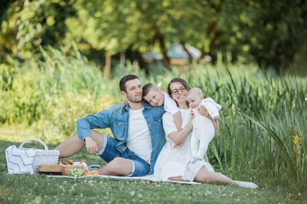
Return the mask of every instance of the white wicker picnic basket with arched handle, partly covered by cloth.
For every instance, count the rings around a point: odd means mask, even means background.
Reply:
[[[29,141],[33,141],[33,140],[40,142],[45,147],[45,150],[35,149],[35,155],[34,155],[34,159],[32,162],[32,168],[33,168],[34,174],[37,174],[39,166],[41,164],[57,164],[59,155],[60,155],[60,151],[49,150],[47,145],[43,143],[43,141],[41,141],[40,139],[36,139],[36,138],[32,138],[32,139],[28,139],[24,141],[23,143],[20,144],[19,149],[27,149],[27,148],[23,148],[24,144],[26,144]]]

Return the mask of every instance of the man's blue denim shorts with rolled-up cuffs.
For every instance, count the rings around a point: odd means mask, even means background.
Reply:
[[[132,163],[132,170],[129,175],[126,176],[144,176],[147,175],[150,171],[149,164],[137,156],[135,152],[130,151],[128,148],[121,154],[120,151],[116,149],[116,141],[103,135],[103,144],[101,150],[97,153],[101,159],[105,162],[111,162],[116,157],[121,157],[128,159]]]

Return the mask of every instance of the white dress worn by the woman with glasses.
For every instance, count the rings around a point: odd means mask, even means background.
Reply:
[[[180,113],[184,119],[186,115],[190,114],[190,110],[180,109]],[[212,166],[208,162],[205,162],[205,160],[197,161],[194,164],[190,163],[192,159],[190,148],[191,133],[180,147],[177,149],[173,148],[175,143],[168,138],[168,135],[173,131],[178,131],[178,129],[173,117],[168,112],[163,115],[163,128],[166,143],[158,156],[153,174],[154,177],[165,180],[173,176],[182,176],[184,180],[193,181],[196,173],[202,166],[214,172]]]

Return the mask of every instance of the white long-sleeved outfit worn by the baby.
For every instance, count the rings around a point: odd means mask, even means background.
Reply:
[[[193,118],[193,132],[191,137],[191,153],[193,160],[191,163],[195,163],[196,160],[203,160],[208,150],[208,145],[214,137],[214,126],[212,121],[204,116],[201,116],[198,112],[198,108],[205,107],[209,115],[214,118],[218,116],[218,111],[222,106],[214,102],[212,98],[205,98],[201,101],[199,106],[195,109],[191,109],[195,117]],[[191,121],[191,117],[185,117],[182,127],[187,126]]]

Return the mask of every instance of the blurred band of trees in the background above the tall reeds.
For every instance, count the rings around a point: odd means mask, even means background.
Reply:
[[[217,61],[256,63],[305,73],[307,5],[304,0],[8,0],[0,10],[0,60],[39,58],[39,46],[72,42],[91,61],[105,56],[138,60],[156,50],[170,69],[168,47],[186,43]]]

